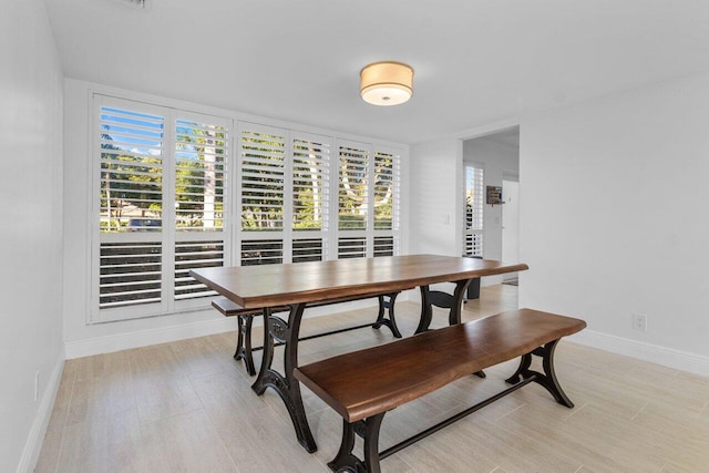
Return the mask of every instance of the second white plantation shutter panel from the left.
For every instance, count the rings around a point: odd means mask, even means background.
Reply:
[[[224,266],[228,131],[214,117],[175,121],[175,299],[216,292],[188,271]]]

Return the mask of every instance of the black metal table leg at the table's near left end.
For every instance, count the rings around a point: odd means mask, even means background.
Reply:
[[[251,389],[261,395],[267,388],[273,388],[286,404],[290,421],[296,430],[298,442],[308,453],[318,450],[318,445],[312,438],[308,418],[302,405],[302,397],[300,393],[300,383],[292,376],[292,370],[298,366],[298,332],[300,331],[300,321],[305,304],[290,306],[290,315],[286,322],[279,317],[271,316],[270,309],[264,310],[264,359],[258,377]],[[280,374],[271,369],[274,360],[274,340],[285,343],[284,351],[284,371]]]

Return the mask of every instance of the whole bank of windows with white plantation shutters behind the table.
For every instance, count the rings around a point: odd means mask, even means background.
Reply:
[[[94,106],[92,322],[206,306],[193,268],[398,253],[398,150],[239,122],[233,165],[229,119]]]

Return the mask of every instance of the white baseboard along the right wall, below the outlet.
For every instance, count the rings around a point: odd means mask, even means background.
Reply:
[[[709,377],[709,357],[701,354],[689,353],[687,351],[675,350],[588,329],[568,337],[568,340],[613,353],[625,354],[639,360]]]

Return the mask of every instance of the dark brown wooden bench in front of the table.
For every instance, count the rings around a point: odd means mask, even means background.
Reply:
[[[507,395],[530,382],[573,408],[554,373],[554,349],[562,337],[586,322],[531,309],[511,310],[467,323],[427,331],[402,340],[298,367],[295,377],[343,419],[342,441],[332,471],[379,472],[380,460]],[[530,369],[532,356],[543,371]],[[485,368],[522,357],[506,381],[511,388],[421,433],[379,452],[379,428],[388,411]],[[364,459],[353,453],[363,438]]]

